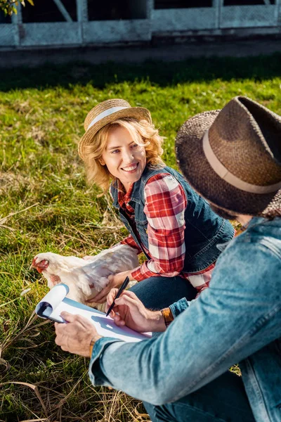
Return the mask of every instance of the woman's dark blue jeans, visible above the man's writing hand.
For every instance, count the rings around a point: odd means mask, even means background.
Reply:
[[[150,277],[140,281],[130,290],[136,293],[148,309],[163,309],[181,298],[188,301],[195,298],[197,290],[188,280],[176,277]]]

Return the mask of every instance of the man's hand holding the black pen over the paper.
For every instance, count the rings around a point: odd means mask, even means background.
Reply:
[[[106,310],[109,309],[115,296],[117,288],[112,288],[107,295]],[[161,311],[150,311],[143,306],[143,302],[138,299],[135,293],[125,290],[122,295],[115,300],[115,307],[110,312],[117,326],[126,325],[139,333],[147,331],[165,331],[164,318]]]

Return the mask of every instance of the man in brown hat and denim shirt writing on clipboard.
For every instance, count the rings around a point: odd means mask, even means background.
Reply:
[[[153,422],[281,421],[281,117],[235,97],[185,122],[176,152],[195,190],[245,229],[221,245],[209,288],[162,312],[131,292],[116,300],[117,324],[164,331],[151,340],[100,338],[64,314],[55,342],[88,357],[91,343],[92,383],[142,399]],[[242,377],[228,371],[238,362]]]

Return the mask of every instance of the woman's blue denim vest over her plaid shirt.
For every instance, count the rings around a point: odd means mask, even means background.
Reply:
[[[133,231],[130,219],[121,209],[118,203],[117,183],[112,183],[110,192],[113,198],[113,205],[119,210],[119,218],[128,229],[133,239],[145,253],[148,260],[150,256],[145,252],[143,245],[148,249],[148,219],[143,211],[145,207],[144,190],[145,184],[155,174],[171,174],[181,184],[188,206],[185,209],[185,261],[183,272],[192,274],[202,271],[216,261],[220,251],[216,248],[219,243],[230,241],[234,235],[233,226],[226,219],[218,217],[211,210],[206,200],[201,198],[189,186],[183,176],[170,167],[151,169],[145,167],[141,178],[133,185],[133,192],[129,205],[135,210],[135,223],[141,243]]]

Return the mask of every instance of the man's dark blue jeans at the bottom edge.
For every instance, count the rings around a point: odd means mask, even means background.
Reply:
[[[254,422],[242,378],[232,372],[176,402],[144,403],[152,422]]]

